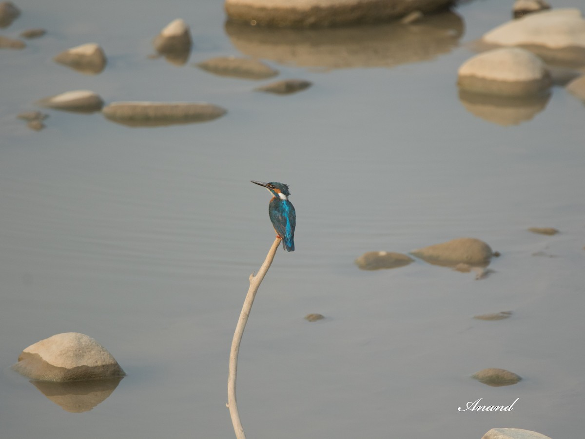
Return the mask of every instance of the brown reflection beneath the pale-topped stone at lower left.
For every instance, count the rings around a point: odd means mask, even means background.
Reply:
[[[90,411],[118,387],[122,378],[67,383],[31,381],[44,396],[71,413]]]

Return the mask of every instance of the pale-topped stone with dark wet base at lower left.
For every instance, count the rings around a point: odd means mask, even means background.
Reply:
[[[102,345],[79,332],[64,332],[27,347],[12,368],[39,381],[118,378],[125,372]]]

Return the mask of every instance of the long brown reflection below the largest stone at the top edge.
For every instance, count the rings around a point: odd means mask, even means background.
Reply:
[[[303,67],[391,67],[429,60],[459,44],[463,20],[453,12],[415,23],[333,29],[274,29],[226,22],[233,45],[249,56]]]

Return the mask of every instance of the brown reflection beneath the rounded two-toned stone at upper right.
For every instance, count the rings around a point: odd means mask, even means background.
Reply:
[[[463,107],[474,116],[498,125],[518,125],[546,108],[550,92],[530,97],[500,97],[459,90]]]

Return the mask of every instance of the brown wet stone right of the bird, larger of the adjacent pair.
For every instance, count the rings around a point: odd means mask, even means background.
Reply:
[[[465,263],[470,266],[487,266],[494,252],[479,239],[456,238],[413,250],[410,254],[434,265],[456,266]]]

